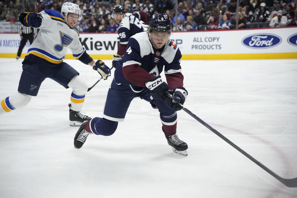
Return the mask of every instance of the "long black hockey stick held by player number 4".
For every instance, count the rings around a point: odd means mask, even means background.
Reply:
[[[172,99],[172,97],[169,95],[169,93],[166,93],[166,95],[167,95],[167,97],[169,97],[169,98]],[[285,186],[287,186],[287,187],[297,187],[297,177],[296,178],[293,178],[293,179],[285,179],[285,178],[280,177],[279,175],[277,175],[276,173],[274,173],[272,170],[270,170],[269,168],[267,168],[266,166],[264,166],[261,162],[257,161],[255,158],[253,158],[252,156],[250,156],[244,150],[240,149],[237,145],[235,145],[233,142],[231,142],[229,139],[227,139],[225,136],[223,136],[221,133],[219,133],[213,127],[209,126],[209,124],[205,123],[203,120],[201,120],[200,118],[198,118],[198,116],[196,116],[195,114],[193,114],[190,110],[188,110],[187,108],[185,108],[182,104],[178,103],[178,105],[180,105],[180,107],[182,107],[182,110],[184,110],[187,114],[189,114],[190,116],[192,116],[193,118],[195,118],[198,122],[200,122],[201,124],[203,124],[210,131],[212,131],[213,133],[215,133],[217,136],[219,136],[224,141],[226,141],[228,144],[230,144],[231,146],[233,146],[240,153],[242,153],[243,155],[245,155],[246,157],[248,157],[250,160],[252,160],[253,162],[255,162],[258,166],[260,166],[266,172],[268,172],[269,174],[271,174],[274,178],[276,178],[278,181],[280,181],[281,183],[283,183]]]

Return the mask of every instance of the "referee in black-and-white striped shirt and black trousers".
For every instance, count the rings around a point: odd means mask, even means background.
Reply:
[[[30,45],[32,44],[34,38],[35,38],[35,33],[37,32],[36,28],[27,28],[21,23],[19,24],[19,34],[21,37],[21,43],[19,45],[19,50],[16,59],[19,59],[19,57],[22,54],[22,51],[24,49],[24,46],[27,43],[27,40],[29,40]]]

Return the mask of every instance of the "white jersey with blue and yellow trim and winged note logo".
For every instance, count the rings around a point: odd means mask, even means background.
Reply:
[[[40,30],[26,55],[34,54],[51,63],[60,63],[69,48],[75,59],[80,58],[85,49],[78,30],[70,28],[58,11],[44,10],[40,14],[43,17]]]

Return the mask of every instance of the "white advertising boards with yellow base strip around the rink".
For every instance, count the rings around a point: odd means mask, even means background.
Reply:
[[[185,60],[297,58],[296,32],[297,27],[173,32],[170,39]],[[0,57],[15,58],[19,39],[19,34],[1,34]],[[111,59],[119,45],[116,33],[81,33],[80,42],[94,59]],[[65,58],[73,58],[70,50]]]

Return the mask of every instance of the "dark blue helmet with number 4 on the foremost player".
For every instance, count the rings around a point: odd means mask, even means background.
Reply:
[[[163,13],[156,13],[149,22],[149,32],[171,32],[172,25],[168,15]]]

